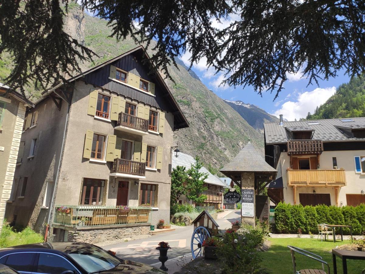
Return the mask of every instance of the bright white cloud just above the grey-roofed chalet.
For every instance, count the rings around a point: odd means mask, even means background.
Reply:
[[[276,110],[273,115],[279,117],[279,114],[283,114],[283,117],[288,119],[288,121],[305,118],[308,111],[313,113],[317,106],[325,103],[335,92],[335,87],[316,88],[313,91],[303,92],[297,96],[295,101],[288,101],[282,104],[281,108]]]

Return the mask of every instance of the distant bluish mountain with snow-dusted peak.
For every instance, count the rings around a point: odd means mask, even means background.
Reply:
[[[223,101],[237,111],[250,126],[262,133],[264,132],[264,123],[279,121],[274,115],[267,113],[265,110],[253,104],[245,104],[242,101],[230,101],[226,99],[223,99]]]

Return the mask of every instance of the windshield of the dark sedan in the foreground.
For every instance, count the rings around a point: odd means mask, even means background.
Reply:
[[[93,246],[83,246],[65,252],[88,273],[110,270],[120,264],[120,260],[107,251]]]

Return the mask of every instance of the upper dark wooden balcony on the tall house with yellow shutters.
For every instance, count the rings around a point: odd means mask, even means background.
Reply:
[[[148,134],[148,120],[121,112],[114,129],[137,135],[146,135]]]

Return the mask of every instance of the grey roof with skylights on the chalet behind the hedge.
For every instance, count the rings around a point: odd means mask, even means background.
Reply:
[[[348,118],[349,122],[342,122],[343,119],[322,119],[314,121],[293,121],[283,122],[280,125],[279,122],[264,123],[264,134],[266,144],[280,144],[286,143],[290,140],[287,127],[304,127],[314,130],[312,139],[322,140],[323,142],[334,141],[364,141],[365,138],[356,138],[347,136],[342,133],[339,127],[344,128],[353,127],[351,129],[361,129],[357,126],[365,125],[365,117]],[[318,122],[318,123],[316,123]],[[313,125],[313,123],[316,123]]]

